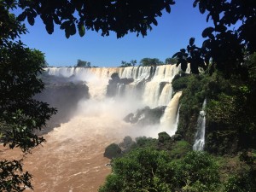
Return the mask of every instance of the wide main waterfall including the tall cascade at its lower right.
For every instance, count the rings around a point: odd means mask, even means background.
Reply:
[[[175,134],[177,131],[178,101],[182,92],[177,92],[172,97],[172,79],[179,71],[180,67],[176,67],[176,65],[156,67],[45,68],[45,72],[49,75],[84,81],[84,84],[89,87],[90,94],[90,103],[87,102],[87,105],[94,102],[94,108],[96,108],[101,102],[102,108],[109,108],[109,113],[112,113],[114,110],[119,111],[119,115],[123,115],[120,119],[123,119],[131,112],[137,111],[139,108],[166,106],[166,110],[160,119],[160,125],[148,128],[152,129],[152,134],[148,133],[148,137],[157,137],[157,133],[160,131],[166,131],[170,135]],[[113,73],[117,73],[119,79],[133,80],[128,84],[123,84],[122,82],[124,81],[117,81],[111,87],[113,90],[109,88],[107,91],[109,80]],[[113,79],[111,79],[111,82],[113,82]],[[115,92],[115,95],[111,95],[111,98],[106,96],[109,91]],[[107,107],[108,104],[110,106]],[[86,105],[83,108],[86,108]]]

